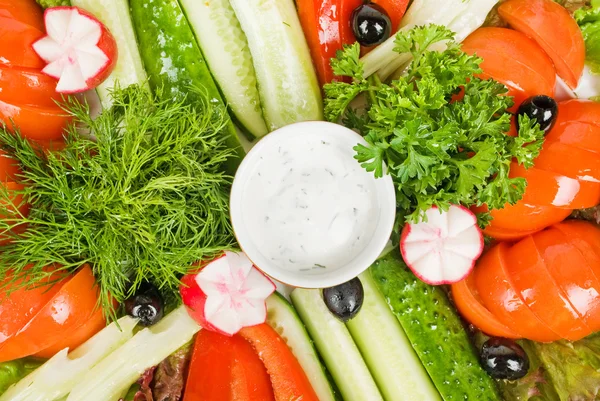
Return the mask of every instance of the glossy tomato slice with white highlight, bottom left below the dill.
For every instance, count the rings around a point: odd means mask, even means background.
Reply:
[[[17,335],[0,346],[0,362],[33,355],[62,341],[89,320],[97,303],[96,281],[86,265]]]

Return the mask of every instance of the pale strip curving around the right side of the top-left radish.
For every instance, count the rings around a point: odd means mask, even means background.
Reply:
[[[146,83],[147,76],[142,58],[135,40],[135,33],[129,15],[127,0],[71,0],[74,6],[94,14],[117,41],[119,56],[112,74],[96,88],[98,97],[104,108],[110,107],[109,91],[118,85],[125,88],[129,85]]]

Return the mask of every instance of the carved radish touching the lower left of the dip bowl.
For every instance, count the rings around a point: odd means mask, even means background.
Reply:
[[[265,301],[275,292],[275,284],[244,253],[225,252],[181,282],[181,297],[190,316],[203,328],[228,336],[264,323]]]

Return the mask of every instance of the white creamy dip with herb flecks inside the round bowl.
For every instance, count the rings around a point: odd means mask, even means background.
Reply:
[[[260,150],[241,187],[241,215],[256,248],[280,268],[337,268],[373,237],[375,179],[354,159],[353,139],[303,131]]]

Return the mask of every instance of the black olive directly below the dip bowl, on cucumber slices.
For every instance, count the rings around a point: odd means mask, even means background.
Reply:
[[[365,293],[358,278],[323,290],[325,305],[331,313],[344,322],[358,313],[364,298]]]

